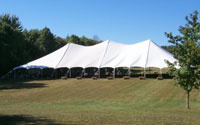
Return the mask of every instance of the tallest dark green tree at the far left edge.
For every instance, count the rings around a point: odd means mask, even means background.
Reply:
[[[27,61],[27,41],[22,30],[18,17],[0,16],[0,75]]]

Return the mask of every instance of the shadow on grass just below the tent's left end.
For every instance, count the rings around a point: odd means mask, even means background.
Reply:
[[[27,83],[27,82],[16,82],[16,81],[0,82],[0,90],[33,89],[42,87],[47,87],[47,85],[44,83]]]

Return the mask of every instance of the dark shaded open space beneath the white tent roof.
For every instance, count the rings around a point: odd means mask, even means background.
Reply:
[[[17,69],[14,70],[13,77],[18,77],[19,79],[52,79],[52,78],[61,78],[61,79],[68,79],[68,78],[107,78],[107,79],[114,79],[114,78],[123,78],[123,79],[130,79],[130,78],[139,78],[145,79],[148,78],[157,78],[158,80],[163,79],[162,69],[160,69],[160,73],[158,70],[153,71],[153,68],[150,70],[146,69],[136,69],[136,68],[125,68],[125,67],[118,67],[118,68],[64,68],[65,70],[61,69],[52,69],[52,68],[31,68],[31,69]],[[90,69],[90,70],[88,70]],[[151,72],[151,73],[150,73]],[[153,72],[153,73],[152,73]],[[9,73],[12,74],[12,73]],[[165,77],[167,76],[167,72],[165,72]],[[9,76],[10,77],[10,76]]]

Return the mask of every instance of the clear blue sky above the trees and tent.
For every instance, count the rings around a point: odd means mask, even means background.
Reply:
[[[28,30],[50,28],[68,35],[134,44],[151,39],[169,45],[185,16],[200,12],[200,0],[0,0],[0,15],[16,15]]]

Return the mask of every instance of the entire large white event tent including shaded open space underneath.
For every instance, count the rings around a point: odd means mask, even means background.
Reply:
[[[73,43],[27,64],[17,66],[13,74],[26,78],[144,78],[163,74],[173,55],[151,40],[126,45],[106,40],[93,46]],[[34,74],[34,75],[33,75]]]

